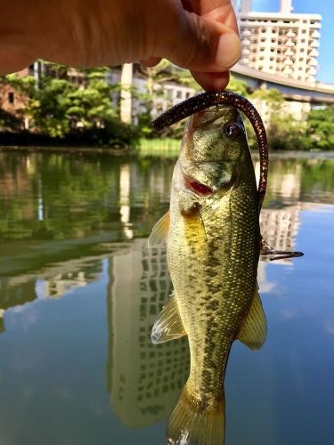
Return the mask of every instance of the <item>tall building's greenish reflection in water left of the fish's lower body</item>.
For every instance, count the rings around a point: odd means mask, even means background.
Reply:
[[[129,427],[166,419],[189,374],[186,338],[151,344],[151,327],[172,287],[166,255],[137,239],[110,257],[108,389],[115,414]]]

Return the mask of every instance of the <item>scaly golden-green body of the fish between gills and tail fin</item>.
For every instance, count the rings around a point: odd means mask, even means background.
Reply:
[[[188,384],[199,400],[215,404],[256,287],[257,206],[231,190],[219,202],[206,200],[199,213],[184,216],[178,208],[171,203],[167,255],[191,350]]]

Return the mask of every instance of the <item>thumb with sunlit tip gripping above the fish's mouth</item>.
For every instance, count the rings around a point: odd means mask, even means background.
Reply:
[[[184,11],[173,30],[167,59],[185,69],[218,73],[240,58],[239,36],[223,23]]]

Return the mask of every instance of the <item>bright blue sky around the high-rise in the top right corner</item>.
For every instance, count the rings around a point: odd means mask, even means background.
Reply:
[[[319,82],[334,84],[334,0],[292,0],[293,12],[320,14],[322,28],[318,61],[320,71],[316,78]],[[253,0],[252,11],[278,12],[280,0]]]

